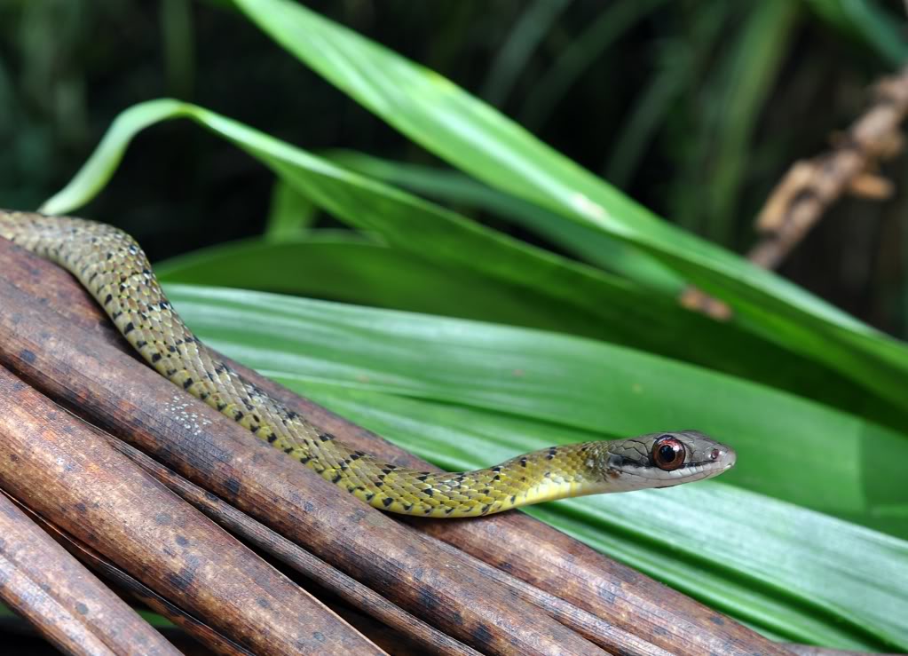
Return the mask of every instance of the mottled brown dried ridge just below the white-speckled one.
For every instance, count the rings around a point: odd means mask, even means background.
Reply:
[[[5,368],[0,481],[29,508],[256,653],[383,653]]]

